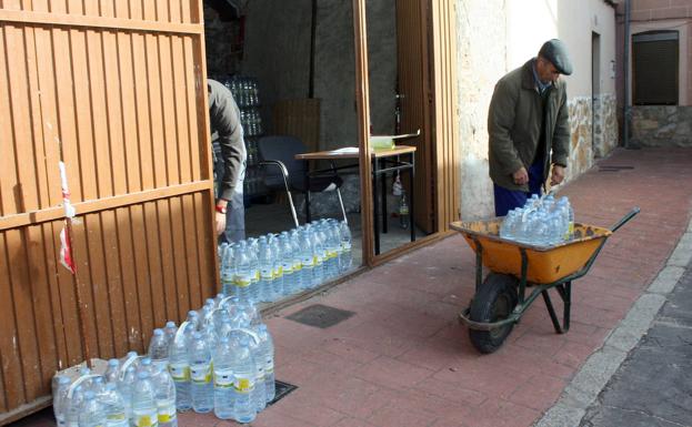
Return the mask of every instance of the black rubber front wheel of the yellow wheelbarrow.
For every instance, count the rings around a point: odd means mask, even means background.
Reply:
[[[471,302],[471,321],[493,323],[505,319],[517,306],[517,278],[490,273]],[[490,329],[469,329],[471,343],[479,352],[495,352],[510,335],[513,323]]]

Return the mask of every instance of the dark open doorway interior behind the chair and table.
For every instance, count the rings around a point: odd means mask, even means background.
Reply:
[[[235,4],[231,7],[230,4]],[[424,1],[368,2],[368,48],[371,134],[421,135],[403,144],[415,146],[415,177],[390,173],[378,182],[378,253],[385,254],[437,231],[433,215],[433,151],[430,133],[429,6]],[[258,237],[291,230],[294,223],[285,192],[265,185],[258,141],[267,135],[300,139],[308,151],[358,146],[353,19],[350,2],[312,0],[300,3],[205,1],[208,74],[240,87],[254,98],[239,95],[243,112],[248,170],[244,182],[245,234]],[[399,96],[398,96],[399,94]],[[353,163],[352,161],[350,163]],[[358,169],[349,161],[339,175],[343,210],[353,233],[354,265],[361,264],[361,206]],[[329,167],[318,161],[312,169]],[[395,183],[402,185],[397,189]],[[411,204],[414,233],[402,217]],[[307,221],[307,201],[293,192],[298,221]],[[311,220],[342,220],[333,193],[313,194]],[[387,217],[383,217],[387,216]],[[372,231],[369,231],[372,233]]]

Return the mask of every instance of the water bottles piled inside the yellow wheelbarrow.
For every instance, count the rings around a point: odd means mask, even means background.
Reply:
[[[533,194],[523,207],[510,211],[500,226],[500,237],[535,246],[551,246],[573,238],[574,211],[569,199],[552,193]]]

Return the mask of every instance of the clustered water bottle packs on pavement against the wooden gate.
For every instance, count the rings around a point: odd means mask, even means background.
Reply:
[[[217,295],[177,327],[154,329],[146,356],[53,378],[58,426],[177,427],[177,413],[250,423],[273,400],[274,347],[254,305]]]

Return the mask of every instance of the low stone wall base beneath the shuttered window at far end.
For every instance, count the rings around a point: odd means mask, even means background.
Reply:
[[[632,106],[633,146],[692,148],[692,106]]]

